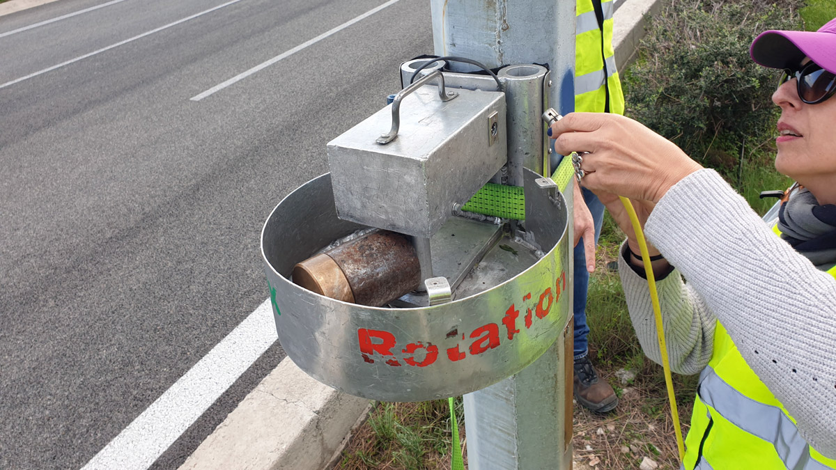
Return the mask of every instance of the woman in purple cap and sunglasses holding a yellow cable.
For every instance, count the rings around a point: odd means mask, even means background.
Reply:
[[[836,468],[836,18],[767,31],[750,49],[783,70],[777,171],[798,184],[763,221],[716,171],[619,115],[554,123],[581,184],[627,239],[619,275],[642,348],[660,362],[629,197],[650,243],[670,367],[700,373],[683,467]],[[687,279],[687,282],[685,281]]]

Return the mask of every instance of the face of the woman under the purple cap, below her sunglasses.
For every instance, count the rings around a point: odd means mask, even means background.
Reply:
[[[775,168],[807,186],[819,203],[836,203],[836,95],[808,105],[798,98],[796,82],[790,79],[772,94],[781,108]]]

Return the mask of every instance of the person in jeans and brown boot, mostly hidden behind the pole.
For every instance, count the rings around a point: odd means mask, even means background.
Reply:
[[[624,95],[615,69],[613,50],[613,0],[577,0],[575,17],[575,111],[624,114]],[[556,167],[556,166],[554,166]],[[577,204],[574,249],[574,396],[582,406],[604,413],[618,405],[612,386],[600,379],[589,360],[586,299],[589,273],[594,269],[594,246],[604,221],[604,205],[593,192],[577,182],[575,201],[583,198],[589,211]],[[583,243],[578,243],[583,238]],[[584,244],[590,253],[589,263]],[[591,267],[589,265],[591,264]]]

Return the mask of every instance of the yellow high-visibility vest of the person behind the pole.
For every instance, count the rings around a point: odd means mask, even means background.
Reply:
[[[597,8],[596,8],[597,7]],[[613,50],[613,0],[577,0],[575,110],[624,114]]]

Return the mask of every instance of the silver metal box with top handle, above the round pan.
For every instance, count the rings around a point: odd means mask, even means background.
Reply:
[[[417,84],[417,83],[416,83]],[[430,238],[507,161],[505,94],[417,87],[328,144],[339,218]],[[400,125],[393,127],[393,120]],[[381,134],[396,128],[386,144]]]

